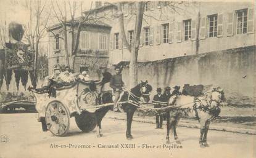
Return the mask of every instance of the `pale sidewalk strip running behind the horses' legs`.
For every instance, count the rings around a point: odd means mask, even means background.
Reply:
[[[106,117],[110,119],[126,120],[126,113],[113,113],[112,111],[109,111]],[[221,116],[221,117],[225,117],[225,116]],[[133,120],[136,122],[145,122],[145,123],[155,124],[155,117],[153,116],[136,116],[136,114],[134,114]],[[163,125],[166,125],[166,121],[163,121]],[[200,128],[200,125],[196,119],[186,119],[186,118],[182,118],[178,126],[189,127],[189,128]],[[248,126],[247,128],[243,128],[243,127],[244,125],[240,125],[240,124],[218,122],[218,119],[217,119],[211,122],[209,129],[225,131],[225,132],[236,132],[236,133],[246,133],[246,134],[256,135],[255,128],[250,126]]]

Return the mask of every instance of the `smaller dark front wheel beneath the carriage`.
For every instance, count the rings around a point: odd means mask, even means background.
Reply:
[[[87,111],[75,116],[76,125],[83,132],[91,132],[96,127],[96,121],[95,114]]]

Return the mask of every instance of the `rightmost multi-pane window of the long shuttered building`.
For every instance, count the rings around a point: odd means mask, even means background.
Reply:
[[[237,34],[247,33],[247,9],[236,11]]]

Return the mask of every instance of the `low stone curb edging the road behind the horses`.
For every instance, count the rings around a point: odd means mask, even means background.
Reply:
[[[126,120],[125,116],[107,116],[107,117],[109,119]],[[154,120],[152,119],[133,118],[133,120],[141,123],[155,124]],[[163,124],[166,125],[166,122],[163,122]],[[200,125],[180,122],[178,124],[178,127],[200,128]],[[209,130],[256,135],[256,130],[247,129],[247,128],[233,128],[233,127],[222,127],[218,125],[210,125]]]

